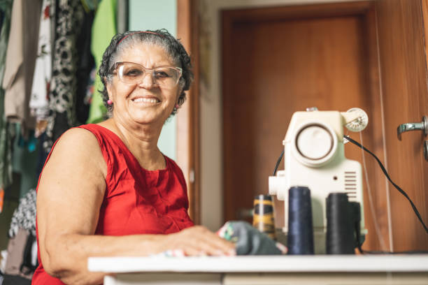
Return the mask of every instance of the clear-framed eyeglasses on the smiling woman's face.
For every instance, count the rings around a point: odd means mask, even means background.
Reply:
[[[117,62],[110,73],[113,73],[114,70],[116,70],[119,80],[126,84],[139,84],[144,80],[145,75],[150,74],[155,85],[164,87],[176,86],[183,73],[183,69],[176,66],[145,68],[141,64],[127,61]]]

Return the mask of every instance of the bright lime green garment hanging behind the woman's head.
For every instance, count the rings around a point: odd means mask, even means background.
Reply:
[[[101,65],[104,51],[110,44],[111,38],[117,33],[116,29],[116,0],[103,0],[99,3],[92,24],[91,50],[97,64],[97,71]],[[94,124],[106,119],[107,109],[99,90],[103,89],[103,84],[97,75],[94,83],[94,94],[90,105],[90,114],[87,124]]]

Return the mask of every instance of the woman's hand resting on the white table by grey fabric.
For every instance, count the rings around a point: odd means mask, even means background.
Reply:
[[[181,249],[186,256],[234,256],[235,245],[220,238],[204,226],[192,226],[166,235],[165,250]]]

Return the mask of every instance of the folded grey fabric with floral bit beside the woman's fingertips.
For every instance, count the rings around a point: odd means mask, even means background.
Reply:
[[[237,255],[278,255],[287,251],[283,244],[275,242],[246,221],[228,221],[217,235],[234,242]]]

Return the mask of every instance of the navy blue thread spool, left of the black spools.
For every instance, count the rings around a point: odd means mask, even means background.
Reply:
[[[313,254],[311,191],[291,187],[288,191],[288,254]]]

